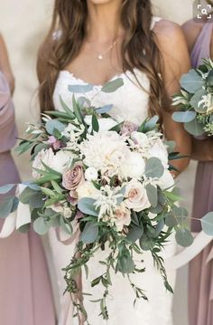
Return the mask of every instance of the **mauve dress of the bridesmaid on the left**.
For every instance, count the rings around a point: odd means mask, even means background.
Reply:
[[[10,153],[15,137],[14,105],[0,72],[0,186],[20,181]],[[3,222],[0,219],[0,229]],[[51,284],[40,238],[33,232],[16,232],[0,239],[0,324],[55,323]]]

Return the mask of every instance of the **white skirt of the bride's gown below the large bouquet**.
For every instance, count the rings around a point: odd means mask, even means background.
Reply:
[[[63,295],[66,283],[63,279],[64,272],[61,269],[68,265],[71,256],[74,253],[75,243],[65,245],[61,244],[55,234],[50,231],[50,244],[53,255],[53,263],[57,273],[58,292],[60,295],[60,315],[58,325],[79,325],[77,319],[72,319],[72,303],[69,294]],[[173,237],[172,237],[173,238]],[[176,244],[174,239],[165,247],[162,257],[170,258],[175,254]],[[90,325],[172,325],[172,294],[167,292],[162,281],[160,273],[153,267],[152,255],[147,252],[144,255],[136,255],[135,262],[142,258],[146,267],[146,272],[131,276],[132,281],[144,289],[149,301],[139,300],[134,306],[135,294],[131,288],[128,279],[122,274],[111,274],[113,286],[109,287],[109,297],[107,307],[109,311],[109,320],[107,323],[99,315],[100,308],[98,303],[90,302],[102,298],[104,288],[98,285],[95,288],[90,287],[90,282],[101,275],[104,271],[103,266],[98,261],[104,261],[105,252],[97,253],[96,257],[88,263],[89,276],[83,272],[83,292],[92,293],[93,296],[85,296],[84,305],[88,311],[88,323]],[[139,260],[140,259],[140,260]],[[167,270],[167,275],[171,287],[175,285],[175,270]]]

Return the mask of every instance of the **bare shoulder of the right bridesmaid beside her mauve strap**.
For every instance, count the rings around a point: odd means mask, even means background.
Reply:
[[[183,33],[185,34],[188,47],[190,51],[192,50],[199,33],[203,27],[204,23],[196,23],[193,19],[190,19],[182,25]]]

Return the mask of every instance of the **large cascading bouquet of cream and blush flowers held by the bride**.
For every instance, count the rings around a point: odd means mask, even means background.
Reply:
[[[110,81],[102,91],[115,91],[120,84]],[[73,110],[61,98],[60,103],[64,111],[46,112],[40,126],[29,125],[26,130],[27,139],[18,151],[31,149],[33,180],[24,184],[19,196],[8,196],[1,209],[9,215],[19,204],[30,206],[31,220],[21,231],[32,223],[41,235],[50,227],[77,235],[76,252],[64,271],[66,291],[77,314],[85,319],[77,278],[82,269],[88,274],[88,261],[97,251],[106,251],[106,259],[99,261],[105,272],[91,286],[103,285],[103,297],[97,302],[102,317],[108,319],[112,272],[126,275],[135,298],[146,299],[143,288],[132,281],[134,273],[145,272],[144,251],[152,253],[165,287],[172,292],[161,256],[163,246],[173,229],[182,246],[193,241],[187,211],[175,205],[180,196],[169,160],[178,155],[172,153],[174,144],[162,139],[156,117],[137,126],[112,119],[111,105],[94,108],[86,98],[74,96]],[[13,187],[1,187],[0,193]],[[135,253],[143,267],[134,262]]]

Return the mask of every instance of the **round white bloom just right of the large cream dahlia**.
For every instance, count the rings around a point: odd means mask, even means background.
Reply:
[[[138,152],[130,152],[126,155],[125,161],[121,166],[121,171],[125,178],[131,177],[139,179],[143,177],[144,170],[145,161]]]

